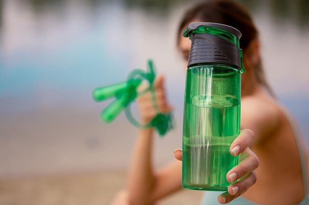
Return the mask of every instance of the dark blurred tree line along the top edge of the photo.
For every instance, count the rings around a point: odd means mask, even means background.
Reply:
[[[168,15],[171,7],[176,4],[186,5],[201,0],[0,0],[0,29],[3,24],[4,3],[15,1],[21,7],[31,8],[36,15],[45,12],[66,12],[64,8],[70,3],[78,3],[85,9],[95,12],[96,8],[102,8],[108,4],[118,4],[127,9],[140,8],[146,10],[150,15]],[[301,29],[309,27],[309,0],[236,0],[249,9],[250,12],[256,13],[267,9],[271,17],[278,23],[291,21]]]

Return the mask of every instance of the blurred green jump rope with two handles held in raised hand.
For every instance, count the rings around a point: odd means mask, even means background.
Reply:
[[[164,136],[169,130],[173,129],[174,120],[172,113],[161,113],[159,111],[156,104],[154,79],[154,63],[149,59],[147,62],[147,72],[142,69],[134,69],[128,75],[126,83],[124,82],[102,88],[96,88],[92,93],[95,101],[102,101],[113,96],[116,97],[116,100],[103,110],[101,113],[101,119],[105,122],[112,122],[124,108],[125,116],[131,124],[141,129],[149,129],[154,127],[160,136]],[[149,87],[137,92],[137,88],[143,80],[148,81]],[[133,102],[138,96],[141,96],[148,91],[151,92],[156,116],[150,122],[141,124],[132,115],[131,102]]]

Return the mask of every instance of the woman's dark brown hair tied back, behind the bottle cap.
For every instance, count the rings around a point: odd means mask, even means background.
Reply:
[[[239,41],[240,48],[244,52],[250,42],[258,38],[258,30],[245,7],[232,0],[206,0],[194,5],[193,8],[185,13],[178,29],[178,44],[180,40],[179,33],[181,33],[182,29],[187,27],[194,19],[198,19],[202,22],[226,24],[238,29],[242,34]],[[274,96],[272,89],[266,81],[261,59],[254,71],[257,81]]]

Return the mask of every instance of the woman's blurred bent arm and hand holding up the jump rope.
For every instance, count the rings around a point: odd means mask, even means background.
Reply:
[[[157,106],[162,113],[170,112],[171,107],[165,98],[163,77],[155,84]],[[141,118],[147,123],[155,116],[151,93],[138,99]],[[175,161],[164,169],[154,172],[152,165],[154,129],[139,130],[128,175],[128,198],[132,205],[149,205],[159,198],[181,188],[181,163]]]

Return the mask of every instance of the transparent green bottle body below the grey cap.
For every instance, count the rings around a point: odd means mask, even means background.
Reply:
[[[230,146],[240,132],[240,72],[223,64],[189,67],[183,125],[184,188],[227,190],[238,164]]]

